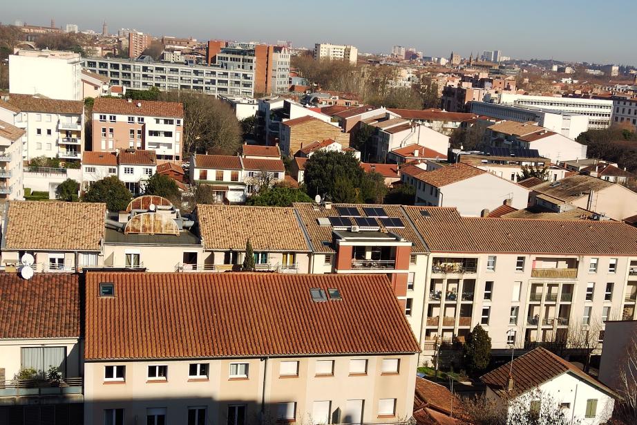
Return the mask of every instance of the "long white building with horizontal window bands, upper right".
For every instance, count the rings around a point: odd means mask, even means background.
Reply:
[[[577,113],[589,117],[589,129],[607,129],[611,124],[612,100],[583,99],[579,97],[531,96],[517,93],[487,95],[487,102],[513,106],[535,106],[555,109],[567,113]],[[561,133],[561,132],[560,132]]]

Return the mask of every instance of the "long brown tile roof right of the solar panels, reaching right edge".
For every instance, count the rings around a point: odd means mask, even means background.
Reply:
[[[403,209],[431,252],[637,255],[637,229],[616,221],[496,220],[462,217],[455,207]]]

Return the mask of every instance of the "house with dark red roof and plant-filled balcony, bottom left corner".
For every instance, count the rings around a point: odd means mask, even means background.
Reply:
[[[0,422],[83,423],[79,275],[4,272],[0,298]],[[45,380],[51,367],[57,385]]]

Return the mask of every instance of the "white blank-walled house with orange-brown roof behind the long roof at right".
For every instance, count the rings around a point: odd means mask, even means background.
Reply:
[[[526,187],[462,162],[433,171],[405,168],[401,180],[416,188],[417,205],[457,207],[463,216],[481,216],[504,200],[510,200],[516,209],[529,202]]]

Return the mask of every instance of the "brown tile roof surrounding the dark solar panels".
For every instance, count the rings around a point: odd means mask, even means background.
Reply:
[[[410,225],[409,220],[400,205],[374,205],[374,204],[333,204],[330,209],[319,207],[314,209],[311,202],[295,202],[292,205],[303,223],[303,229],[310,240],[313,252],[334,253],[331,247],[332,243],[332,226],[319,225],[320,217],[338,217],[340,216],[337,207],[355,207],[361,216],[365,216],[364,207],[383,208],[389,217],[401,218],[404,228],[390,228],[390,232],[405,238],[412,243],[412,252],[428,252],[422,239],[418,236],[414,227]],[[379,223],[381,229],[385,229],[382,223]]]

